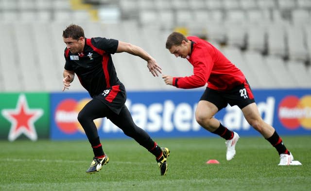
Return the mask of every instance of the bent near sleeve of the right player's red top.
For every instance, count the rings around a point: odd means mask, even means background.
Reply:
[[[194,60],[193,75],[186,77],[173,77],[173,86],[183,89],[203,87],[209,78],[213,62],[208,53],[191,55]]]

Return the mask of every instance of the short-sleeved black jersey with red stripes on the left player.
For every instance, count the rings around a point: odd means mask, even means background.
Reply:
[[[65,49],[65,69],[76,73],[92,98],[105,89],[122,85],[111,58],[118,44],[115,39],[95,37],[86,38],[83,52],[73,54]]]

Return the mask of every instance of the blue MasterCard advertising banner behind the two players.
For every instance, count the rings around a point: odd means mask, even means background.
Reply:
[[[203,90],[129,91],[126,106],[134,122],[151,137],[215,136],[195,121],[195,109]],[[279,135],[311,135],[311,89],[254,90],[262,119]],[[87,93],[51,94],[51,138],[86,139],[77,120],[91,98]],[[260,136],[244,119],[239,107],[228,105],[215,118],[241,136]],[[106,118],[94,120],[101,139],[127,138]]]

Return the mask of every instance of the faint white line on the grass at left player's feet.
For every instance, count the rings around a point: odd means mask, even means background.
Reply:
[[[58,163],[87,163],[89,161],[86,160],[62,160],[62,159],[30,159],[30,158],[0,158],[0,161],[7,161],[7,162],[58,162]],[[119,164],[154,164],[153,162],[131,162],[131,161],[111,161],[111,163],[119,163]]]

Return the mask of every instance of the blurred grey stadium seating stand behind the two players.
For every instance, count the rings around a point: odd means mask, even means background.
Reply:
[[[103,18],[109,8],[113,14]],[[60,91],[61,35],[70,23],[83,26],[86,37],[141,46],[167,74],[192,72],[165,49],[177,30],[212,42],[253,88],[311,87],[311,0],[0,0],[0,90]],[[150,75],[141,59],[112,56],[128,90],[175,89]],[[78,84],[71,89],[85,91]]]

